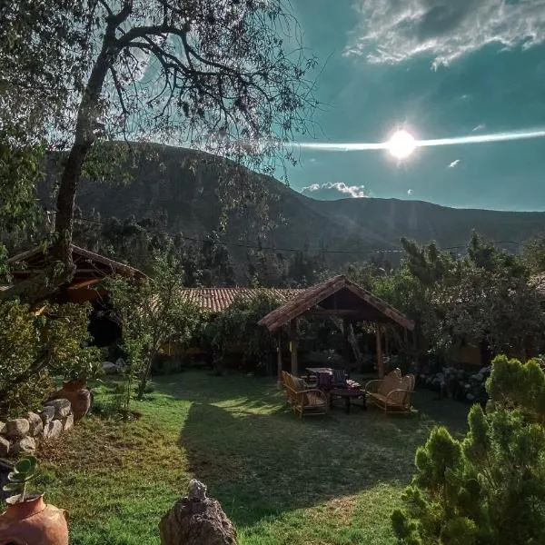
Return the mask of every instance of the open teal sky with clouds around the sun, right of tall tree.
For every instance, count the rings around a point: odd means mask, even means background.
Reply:
[[[545,0],[292,0],[322,72],[313,143],[545,130]],[[545,211],[545,138],[384,150],[302,149],[314,198]]]

